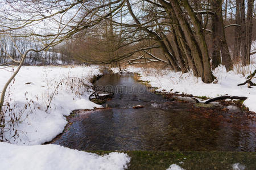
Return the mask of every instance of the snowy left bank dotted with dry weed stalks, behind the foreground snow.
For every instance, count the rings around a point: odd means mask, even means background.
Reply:
[[[15,69],[0,67],[0,90]],[[90,79],[99,74],[97,66],[23,66],[6,93],[5,120],[19,120],[14,126],[6,122],[6,141],[17,145],[51,141],[64,130],[64,116],[75,109],[102,107],[88,99]]]

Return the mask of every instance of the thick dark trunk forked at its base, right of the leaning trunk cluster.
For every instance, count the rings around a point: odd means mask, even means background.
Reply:
[[[212,39],[213,39],[213,69],[220,64],[220,54],[222,64],[226,67],[226,71],[233,69],[232,59],[230,57],[228,44],[226,43],[224,24],[222,18],[222,0],[212,1]]]

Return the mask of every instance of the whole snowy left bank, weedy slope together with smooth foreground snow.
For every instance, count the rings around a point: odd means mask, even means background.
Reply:
[[[0,67],[0,88],[15,69]],[[89,100],[101,75],[98,66],[23,66],[6,95],[0,169],[126,169],[127,154],[40,145],[63,133],[72,111],[103,108]]]

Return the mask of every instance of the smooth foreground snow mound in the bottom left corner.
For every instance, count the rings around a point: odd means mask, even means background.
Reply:
[[[130,157],[100,156],[59,145],[17,146],[0,142],[0,169],[126,169]]]

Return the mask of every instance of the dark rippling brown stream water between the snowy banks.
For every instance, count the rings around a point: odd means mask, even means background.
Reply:
[[[106,102],[110,109],[79,113],[55,144],[78,150],[256,151],[249,113],[193,109],[191,102],[151,93],[128,74],[104,75],[96,85],[114,92]]]

